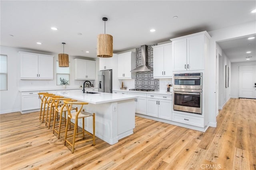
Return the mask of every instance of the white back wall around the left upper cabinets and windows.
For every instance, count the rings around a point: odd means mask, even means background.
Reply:
[[[20,80],[20,55],[18,51],[40,53],[46,55],[54,55],[54,79],[53,80]],[[0,114],[11,113],[20,111],[20,92],[22,88],[62,88],[56,85],[56,61],[58,54],[45,53],[40,51],[31,51],[26,49],[17,49],[12,47],[0,46],[0,53],[7,55],[7,74],[8,74],[8,90],[0,91]],[[67,87],[79,87],[83,84],[84,80],[74,80],[74,59],[87,59],[91,58],[69,56],[70,61],[70,85]],[[96,62],[96,70],[98,70],[98,63]],[[96,73],[97,75],[97,73]],[[94,84],[94,80],[91,81]],[[95,81],[97,82],[97,81]],[[96,85],[96,84],[95,84]]]

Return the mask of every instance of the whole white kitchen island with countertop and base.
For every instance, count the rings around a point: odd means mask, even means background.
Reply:
[[[63,90],[56,92],[56,95],[72,98],[81,102],[88,102],[84,105],[85,111],[95,113],[95,135],[103,141],[113,145],[133,133],[135,127],[135,102],[136,96],[101,93],[87,94]],[[82,127],[82,121],[78,121]],[[92,133],[91,117],[85,119],[85,128]]]

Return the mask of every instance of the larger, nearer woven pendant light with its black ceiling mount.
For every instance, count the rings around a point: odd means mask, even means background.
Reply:
[[[105,22],[104,34],[99,34],[97,37],[97,56],[102,58],[109,58],[113,56],[113,37],[106,34],[106,21],[108,18],[104,17]]]

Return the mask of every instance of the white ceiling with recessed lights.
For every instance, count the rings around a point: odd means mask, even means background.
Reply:
[[[250,13],[256,8],[255,0],[1,0],[0,3],[1,45],[58,54],[63,52],[62,42],[65,42],[65,53],[80,57],[96,57],[97,35],[104,33],[102,17],[108,18],[106,33],[113,36],[114,53],[256,20],[256,13]],[[156,31],[150,32],[152,28]],[[239,39],[219,44],[227,56],[234,49],[244,52],[248,48],[238,46]],[[255,47],[255,40],[252,46]],[[244,57],[242,52],[240,57]]]

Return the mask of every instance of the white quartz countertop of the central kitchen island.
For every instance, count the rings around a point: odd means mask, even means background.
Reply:
[[[124,95],[124,94],[112,94],[96,92],[95,94],[87,94],[82,92],[74,92],[72,90],[57,91],[54,94],[64,96],[66,98],[72,98],[82,102],[88,102],[90,104],[103,104],[109,102],[117,102],[122,100],[134,99],[136,96]]]

